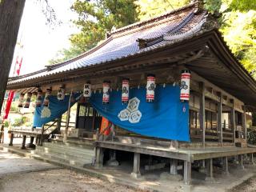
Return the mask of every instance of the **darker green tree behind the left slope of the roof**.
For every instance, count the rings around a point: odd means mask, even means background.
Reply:
[[[81,32],[73,34],[70,42],[78,50],[86,51],[105,38],[107,31],[138,21],[135,0],[96,0],[74,2],[71,7],[78,13],[74,23]]]

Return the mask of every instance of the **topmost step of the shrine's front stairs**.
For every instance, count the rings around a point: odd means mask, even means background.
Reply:
[[[44,142],[43,146],[56,149],[56,150],[68,150],[70,151],[70,153],[76,151],[81,154],[87,154],[87,153],[90,153],[91,151],[94,151],[94,149],[83,149],[83,148],[74,147],[74,146],[59,145],[57,143],[51,143],[51,142]]]

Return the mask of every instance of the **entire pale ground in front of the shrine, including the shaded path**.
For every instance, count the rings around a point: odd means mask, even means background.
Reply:
[[[135,192],[126,186],[0,150],[0,192]]]

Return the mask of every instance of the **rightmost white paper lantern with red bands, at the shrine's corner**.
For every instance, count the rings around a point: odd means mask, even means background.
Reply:
[[[190,100],[190,78],[191,78],[190,70],[182,70],[181,94],[180,94],[180,99],[182,101]]]

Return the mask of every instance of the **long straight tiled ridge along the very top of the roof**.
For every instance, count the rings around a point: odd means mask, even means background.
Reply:
[[[169,12],[166,12],[165,14],[161,14],[161,15],[158,15],[154,18],[148,18],[142,22],[135,22],[129,26],[123,26],[117,30],[114,30],[112,32],[110,32],[110,36],[114,35],[114,34],[120,34],[122,32],[125,32],[126,30],[133,30],[133,29],[137,29],[137,28],[140,28],[142,26],[146,26],[152,22],[157,22],[158,20],[162,20],[166,17],[169,17],[173,14],[176,14],[177,12],[181,11],[181,10],[186,10],[187,8],[190,8],[190,7],[193,7],[193,6],[196,6],[196,3],[195,2],[191,2],[190,4],[186,5],[186,6],[182,6],[181,8],[178,8],[177,10],[171,10]]]

